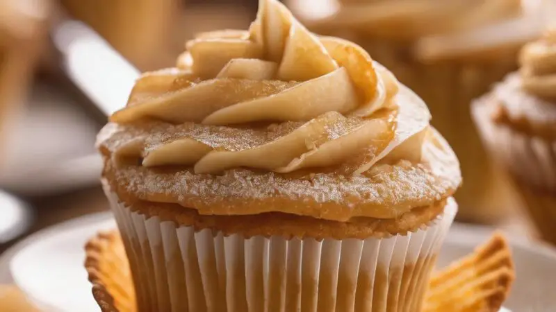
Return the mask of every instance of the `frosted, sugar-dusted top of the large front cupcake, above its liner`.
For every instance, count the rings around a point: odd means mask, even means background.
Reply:
[[[459,164],[423,101],[359,46],[278,1],[145,73],[98,139],[104,176],[199,214],[398,218],[446,200]]]

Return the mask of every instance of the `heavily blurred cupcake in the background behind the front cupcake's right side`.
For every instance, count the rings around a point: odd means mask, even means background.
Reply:
[[[521,0],[316,2],[289,1],[312,31],[357,42],[430,107],[432,125],[461,162],[458,217],[492,223],[506,216],[514,201],[507,177],[489,162],[469,107],[517,68],[521,46],[541,33],[539,19]]]

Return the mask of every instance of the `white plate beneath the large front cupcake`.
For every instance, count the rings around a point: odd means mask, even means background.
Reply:
[[[0,259],[13,280],[45,311],[99,311],[83,268],[83,245],[99,229],[115,227],[109,214],[82,217],[29,237]],[[439,257],[444,266],[488,239],[491,229],[453,225]],[[556,251],[512,238],[518,278],[506,306],[519,312],[556,311]],[[9,258],[9,259],[8,259]]]

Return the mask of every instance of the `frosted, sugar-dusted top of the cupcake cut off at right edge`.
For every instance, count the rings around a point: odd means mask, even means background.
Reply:
[[[521,130],[556,138],[556,29],[527,44],[521,51],[521,69],[498,84],[494,94],[500,110],[495,118]]]

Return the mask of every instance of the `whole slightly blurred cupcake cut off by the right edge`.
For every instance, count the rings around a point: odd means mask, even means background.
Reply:
[[[473,104],[473,116],[543,238],[556,243],[556,30],[525,46],[520,62]]]

